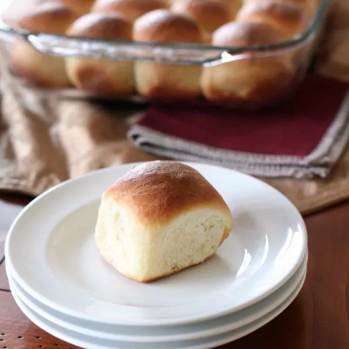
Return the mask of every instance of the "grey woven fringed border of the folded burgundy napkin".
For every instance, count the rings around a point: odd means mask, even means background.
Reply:
[[[305,157],[222,149],[137,124],[130,128],[127,137],[136,147],[171,159],[208,162],[266,177],[326,177],[348,143],[349,90],[331,126],[317,147]]]

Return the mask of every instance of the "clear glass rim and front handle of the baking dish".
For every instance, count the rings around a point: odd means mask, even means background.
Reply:
[[[0,13],[0,41],[27,42],[37,51],[53,56],[95,60],[148,61],[211,66],[253,56],[272,56],[314,42],[328,14],[332,0],[319,0],[307,28],[300,34],[269,45],[213,46],[196,43],[160,43],[133,40],[107,40],[65,34],[31,32],[7,25]]]

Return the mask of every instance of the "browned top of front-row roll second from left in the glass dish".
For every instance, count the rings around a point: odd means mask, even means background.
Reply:
[[[66,34],[107,40],[131,40],[132,24],[124,16],[119,14],[90,13],[77,19],[69,27]]]

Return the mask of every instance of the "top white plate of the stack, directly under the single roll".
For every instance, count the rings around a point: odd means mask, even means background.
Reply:
[[[102,260],[94,243],[100,196],[135,165],[126,164],[64,182],[19,214],[5,245],[17,283],[57,311],[119,325],[196,322],[267,297],[301,264],[307,236],[300,213],[253,177],[189,164],[216,187],[235,217],[232,234],[205,263],[139,284]]]

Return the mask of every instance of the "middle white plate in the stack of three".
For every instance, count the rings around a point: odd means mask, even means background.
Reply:
[[[306,253],[300,269],[295,272],[285,285],[277,289],[264,300],[257,302],[246,309],[240,310],[232,315],[200,323],[154,328],[100,324],[59,313],[54,309],[48,308],[39,301],[36,301],[25,292],[25,290],[23,290],[23,288],[21,288],[12,277],[11,271],[8,270],[7,265],[6,271],[11,290],[15,292],[17,296],[36,314],[46,318],[48,321],[53,322],[56,325],[59,325],[60,327],[72,330],[76,333],[93,336],[95,338],[126,342],[155,343],[184,341],[218,335],[236,330],[263,317],[291,296],[304,276],[307,261],[308,253]]]

